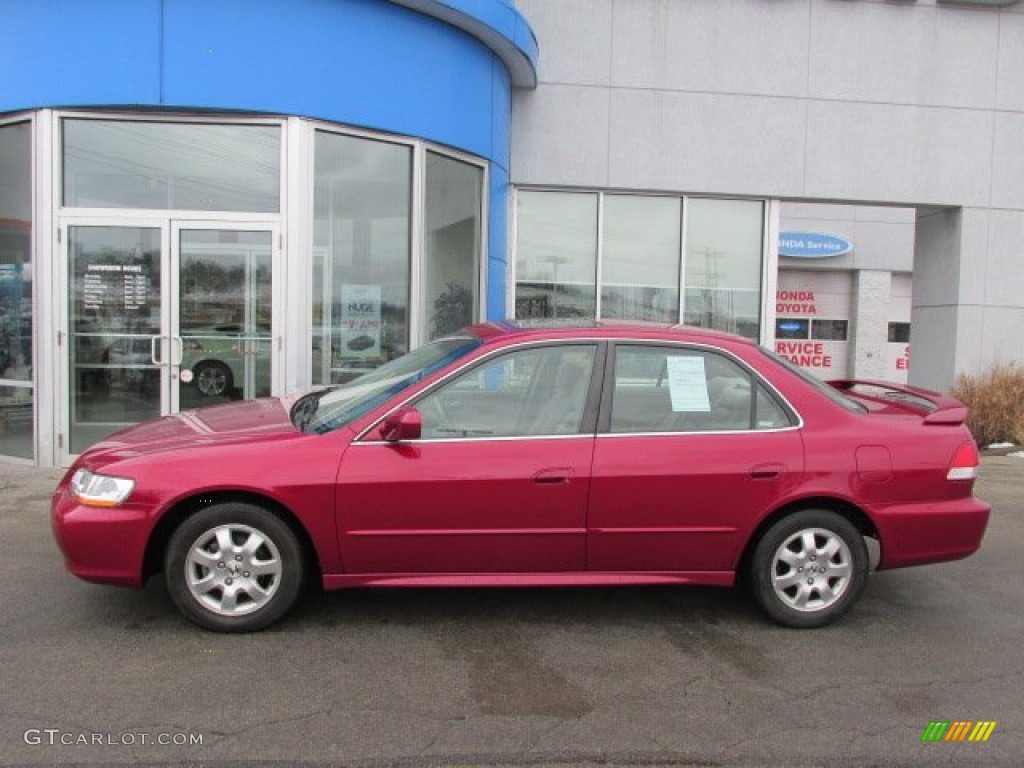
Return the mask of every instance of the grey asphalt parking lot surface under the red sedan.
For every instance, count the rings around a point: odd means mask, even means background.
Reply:
[[[65,571],[58,475],[0,466],[0,765],[1024,764],[1024,459],[983,461],[980,552],[814,631],[658,587],[336,592],[210,634],[160,580]],[[995,726],[922,740],[967,721]]]

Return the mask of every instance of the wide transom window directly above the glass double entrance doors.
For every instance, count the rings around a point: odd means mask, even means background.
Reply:
[[[278,212],[281,129],[67,119],[63,205]]]

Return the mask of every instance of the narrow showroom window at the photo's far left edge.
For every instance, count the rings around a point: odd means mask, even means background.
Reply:
[[[34,457],[32,126],[0,126],[0,455]]]

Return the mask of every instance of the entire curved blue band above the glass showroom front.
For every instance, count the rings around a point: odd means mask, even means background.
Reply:
[[[484,20],[494,9],[506,27],[521,22],[502,0],[474,7]],[[0,0],[0,113],[130,104],[302,115],[507,165],[510,93],[486,45],[388,0]]]

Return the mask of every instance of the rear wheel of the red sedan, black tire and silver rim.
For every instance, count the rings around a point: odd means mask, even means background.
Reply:
[[[841,515],[795,512],[773,524],[751,558],[755,600],[783,627],[823,627],[843,616],[867,585],[867,547]]]

